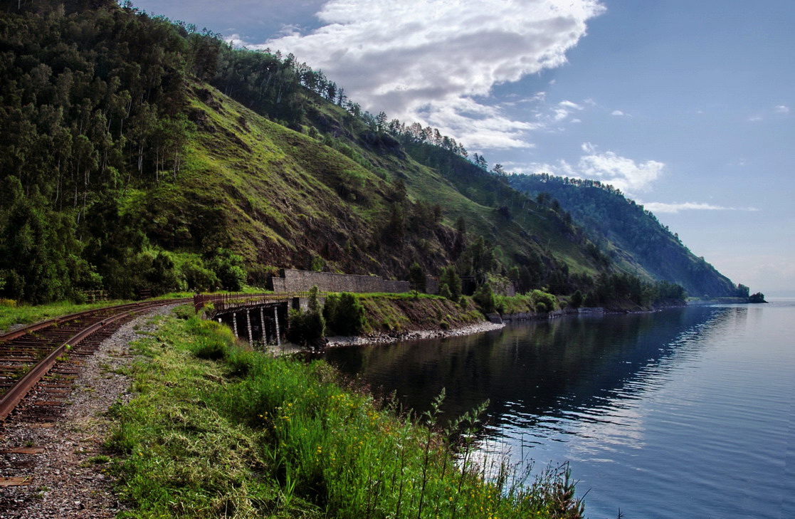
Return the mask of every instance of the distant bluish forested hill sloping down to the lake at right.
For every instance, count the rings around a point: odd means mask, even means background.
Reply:
[[[512,175],[510,184],[539,203],[560,206],[607,254],[630,273],[676,282],[692,296],[746,296],[642,205],[596,180]]]

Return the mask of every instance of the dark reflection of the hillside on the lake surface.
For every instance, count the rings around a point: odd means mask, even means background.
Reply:
[[[489,399],[491,435],[508,428],[543,436],[538,428],[558,431],[560,420],[591,423],[622,409],[630,424],[626,402],[663,383],[666,359],[692,354],[688,334],[708,333],[738,311],[745,308],[518,323],[469,337],[337,349],[326,358],[374,388],[394,390],[418,412],[445,388],[447,416]]]

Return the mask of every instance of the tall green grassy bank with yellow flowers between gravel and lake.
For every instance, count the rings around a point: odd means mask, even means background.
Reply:
[[[529,482],[499,462],[489,477],[494,460],[472,455],[478,412],[440,431],[442,397],[413,416],[344,389],[324,362],[234,347],[214,322],[169,320],[158,335],[111,440],[130,517],[580,517],[565,474]]]

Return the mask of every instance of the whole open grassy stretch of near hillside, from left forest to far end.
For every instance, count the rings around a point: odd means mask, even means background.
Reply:
[[[190,99],[188,114],[197,130],[177,181],[130,190],[124,200],[165,248],[231,246],[250,264],[302,269],[320,256],[332,271],[404,278],[414,260],[431,273],[452,261],[452,225],[463,215],[470,238],[481,234],[498,244],[509,265],[537,250],[568,263],[572,272],[595,273],[551,211],[506,220],[399,146],[366,141],[366,129],[346,120],[339,107],[315,99],[311,116],[359,161],[324,145],[322,135],[316,139],[270,122],[211,87],[193,84]],[[405,181],[409,199],[443,208],[440,227],[407,235],[399,244],[380,235],[397,179]]]

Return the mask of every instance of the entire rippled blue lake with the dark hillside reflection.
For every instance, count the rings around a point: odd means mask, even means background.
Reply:
[[[480,448],[570,462],[591,519],[795,518],[795,300],[519,323],[326,358]]]

